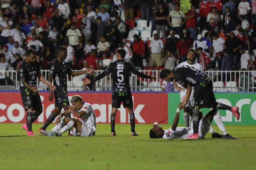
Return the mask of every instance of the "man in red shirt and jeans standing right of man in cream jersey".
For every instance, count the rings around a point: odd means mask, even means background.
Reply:
[[[189,30],[190,34],[193,37],[193,40],[196,40],[196,22],[197,22],[198,13],[195,11],[195,6],[192,5],[191,9],[186,13],[186,29]]]

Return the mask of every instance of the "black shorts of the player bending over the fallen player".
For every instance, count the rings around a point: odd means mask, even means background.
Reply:
[[[212,80],[209,78],[194,86],[193,108],[214,108],[216,106],[212,88]]]

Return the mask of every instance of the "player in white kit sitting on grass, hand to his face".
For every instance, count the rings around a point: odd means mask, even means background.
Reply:
[[[70,130],[73,136],[94,136],[96,132],[95,114],[92,106],[89,103],[82,102],[82,97],[75,95],[71,98],[72,106],[62,112],[56,119],[57,125],[50,131],[41,130],[45,136],[61,136],[62,133]],[[60,118],[64,115],[75,113],[78,119],[65,118],[60,122]]]

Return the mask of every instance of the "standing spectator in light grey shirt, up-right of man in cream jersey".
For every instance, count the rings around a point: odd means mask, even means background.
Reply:
[[[83,11],[82,13],[82,33],[85,36],[85,41],[88,42],[92,38],[92,20],[87,17],[87,11]]]

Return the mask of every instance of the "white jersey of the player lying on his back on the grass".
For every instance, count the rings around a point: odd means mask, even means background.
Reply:
[[[193,128],[191,127],[176,127],[176,130],[172,130],[171,128],[168,130],[164,130],[163,139],[173,139],[173,138],[186,138],[193,135]]]

